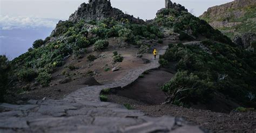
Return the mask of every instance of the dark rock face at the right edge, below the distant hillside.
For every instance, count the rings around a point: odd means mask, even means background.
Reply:
[[[241,36],[235,36],[233,41],[235,44],[241,46],[242,48],[251,47],[251,42],[256,40],[256,33],[245,33]]]

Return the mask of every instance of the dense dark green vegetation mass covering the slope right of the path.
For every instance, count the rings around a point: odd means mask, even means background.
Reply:
[[[167,102],[207,103],[213,92],[220,92],[253,106],[255,99],[248,94],[256,94],[256,54],[210,40],[202,44],[207,51],[196,45],[169,45],[164,59],[177,62],[178,73],[162,87]]]

